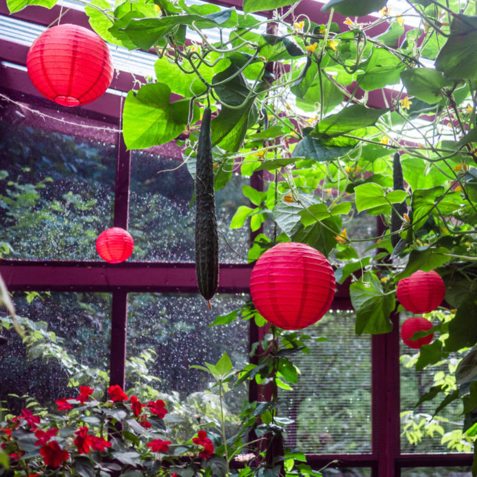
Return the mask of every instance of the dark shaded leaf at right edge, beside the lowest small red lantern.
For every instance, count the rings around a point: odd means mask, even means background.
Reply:
[[[476,315],[475,299],[469,297],[457,308],[456,315],[449,322],[449,337],[444,343],[445,351],[458,351],[477,343],[477,326],[474,326]]]

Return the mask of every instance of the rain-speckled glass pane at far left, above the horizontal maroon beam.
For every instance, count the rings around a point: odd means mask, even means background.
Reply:
[[[2,254],[100,260],[95,241],[105,224],[112,226],[116,168],[114,140],[103,141],[114,135],[101,130],[106,139],[80,138],[90,130],[64,134],[58,121],[30,116],[10,106],[0,118]]]

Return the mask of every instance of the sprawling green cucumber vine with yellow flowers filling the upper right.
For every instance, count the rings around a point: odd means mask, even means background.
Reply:
[[[25,2],[8,5],[14,12]],[[249,260],[277,241],[319,249],[337,265],[339,282],[352,276],[358,334],[389,332],[397,282],[437,269],[456,313],[432,328],[443,339],[423,347],[418,363],[474,347],[474,3],[409,0],[395,14],[385,0],[332,0],[323,25],[297,14],[298,5],[244,0],[243,14],[182,0],[87,3],[103,38],[158,55],[157,80],[125,100],[127,147],[167,143],[185,132],[179,143],[194,173],[201,110],[210,103],[215,188],[226,187],[234,171],[264,171],[269,179],[265,191],[244,186],[253,206],[241,206],[232,219],[232,228],[249,219],[254,231],[273,220]],[[267,8],[276,8],[270,19],[249,14]],[[378,8],[374,19],[360,18]],[[347,18],[337,23],[334,12]],[[199,40],[186,43],[188,32]],[[171,93],[182,99],[171,101]],[[383,231],[350,234],[347,224],[364,213],[381,217]],[[385,256],[390,260],[382,262]],[[477,432],[476,353],[469,351],[456,370],[457,389],[437,384],[424,396],[444,393],[440,408],[463,400],[470,437]],[[271,412],[270,424],[276,419]]]

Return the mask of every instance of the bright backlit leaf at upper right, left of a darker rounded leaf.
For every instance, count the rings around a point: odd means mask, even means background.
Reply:
[[[387,49],[375,48],[371,58],[360,64],[360,69],[364,73],[356,80],[361,88],[370,91],[399,83],[404,64]]]

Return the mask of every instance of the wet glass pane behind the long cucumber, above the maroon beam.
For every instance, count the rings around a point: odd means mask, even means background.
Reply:
[[[150,149],[132,151],[130,232],[135,243],[134,260],[194,260],[195,206],[190,207],[194,183],[181,164],[175,158],[151,154]],[[235,174],[215,193],[221,262],[247,261],[248,229],[229,229],[238,206],[249,205],[241,191],[247,183]]]

